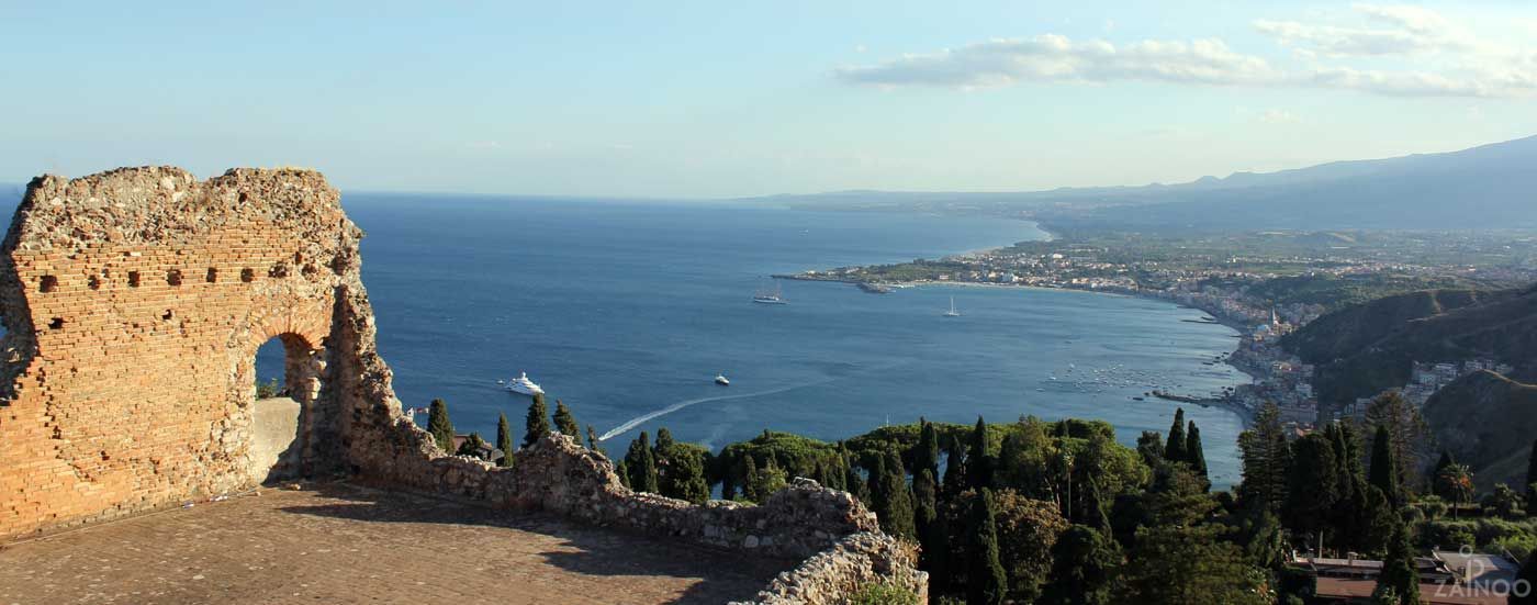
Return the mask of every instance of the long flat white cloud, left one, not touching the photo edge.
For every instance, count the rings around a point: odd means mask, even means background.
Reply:
[[[1144,40],[1116,48],[1102,40],[1073,41],[1057,34],[904,55],[876,66],[841,68],[836,75],[861,84],[964,89],[1021,81],[1242,84],[1276,77],[1263,58],[1233,52],[1222,40]]]

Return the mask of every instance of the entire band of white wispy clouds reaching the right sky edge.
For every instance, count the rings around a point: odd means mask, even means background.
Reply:
[[[1356,5],[1354,25],[1257,20],[1254,28],[1302,57],[1282,68],[1223,40],[1142,40],[1113,45],[1059,34],[979,41],[838,68],[835,77],[881,88],[987,89],[1019,83],[1159,81],[1205,86],[1290,86],[1399,97],[1531,97],[1537,49],[1500,46],[1419,6]],[[1425,60],[1429,57],[1432,60]],[[1354,60],[1371,60],[1356,64]],[[1383,61],[1403,58],[1399,69]],[[1416,60],[1409,66],[1409,60]]]

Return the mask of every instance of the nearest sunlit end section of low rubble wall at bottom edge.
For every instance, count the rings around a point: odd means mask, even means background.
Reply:
[[[733,605],[835,605],[871,584],[888,584],[928,602],[928,573],[918,548],[882,533],[856,533],[775,577],[758,599]]]

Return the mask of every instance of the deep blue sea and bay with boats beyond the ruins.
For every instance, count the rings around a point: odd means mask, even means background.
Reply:
[[[1122,442],[1167,431],[1153,388],[1208,395],[1247,376],[1207,365],[1236,333],[1203,313],[1085,292],[944,287],[864,293],[772,273],[930,258],[1047,238],[1031,223],[618,203],[347,193],[380,350],[409,407],[449,402],[460,431],[521,430],[520,372],[610,451],[667,427],[710,448],[764,428],[839,439],[891,422],[1100,418]],[[942,313],[954,298],[959,318]],[[267,352],[263,372],[280,375]],[[732,385],[713,384],[725,373]],[[1237,481],[1240,419],[1188,408],[1213,481]],[[418,422],[426,422],[418,418]]]

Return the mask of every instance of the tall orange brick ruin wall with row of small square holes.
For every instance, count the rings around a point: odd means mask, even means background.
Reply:
[[[43,177],[3,244],[0,536],[252,485],[255,350],[317,404],[361,232],[315,172]],[[306,405],[307,464],[338,459]]]

